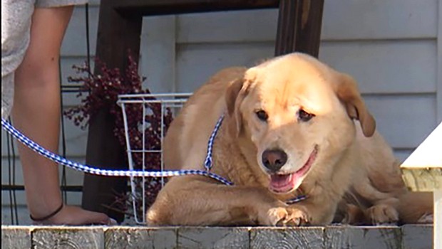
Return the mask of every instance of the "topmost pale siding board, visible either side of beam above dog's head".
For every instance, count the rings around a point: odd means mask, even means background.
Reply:
[[[435,38],[437,0],[325,1],[322,40]],[[178,43],[274,41],[277,9],[178,16]]]

